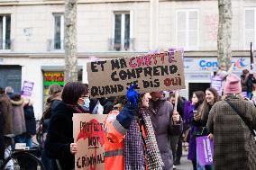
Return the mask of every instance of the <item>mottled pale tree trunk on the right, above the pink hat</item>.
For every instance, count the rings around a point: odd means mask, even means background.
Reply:
[[[218,63],[231,66],[232,50],[232,0],[218,0],[219,25],[218,25]]]

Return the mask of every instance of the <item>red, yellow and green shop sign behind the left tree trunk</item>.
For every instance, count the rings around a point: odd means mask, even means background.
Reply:
[[[63,72],[45,72],[43,73],[43,85],[64,85],[64,73]]]

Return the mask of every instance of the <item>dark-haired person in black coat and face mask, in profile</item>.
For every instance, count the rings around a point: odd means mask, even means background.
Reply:
[[[74,169],[78,145],[73,139],[73,113],[85,112],[78,104],[78,99],[87,94],[87,87],[79,82],[69,82],[64,86],[60,102],[50,118],[45,151],[52,158],[52,169]],[[60,166],[60,167],[59,167]]]

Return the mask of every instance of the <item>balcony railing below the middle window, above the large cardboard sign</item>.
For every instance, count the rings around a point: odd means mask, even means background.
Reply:
[[[116,39],[109,39],[108,40],[108,49],[115,50],[115,51],[133,51],[135,50],[134,46],[135,39],[124,39],[124,40],[116,40]]]

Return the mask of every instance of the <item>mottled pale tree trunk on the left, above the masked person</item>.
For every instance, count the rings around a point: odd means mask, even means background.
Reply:
[[[78,81],[77,0],[65,1],[65,82]]]

